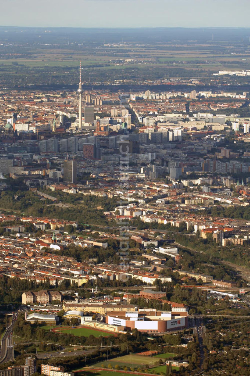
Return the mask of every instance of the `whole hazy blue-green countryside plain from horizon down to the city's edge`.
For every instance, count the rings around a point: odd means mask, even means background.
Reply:
[[[249,68],[245,30],[22,29],[0,27],[3,87],[75,90],[83,85],[144,85],[145,81],[213,80],[219,70]],[[214,40],[212,41],[212,34]],[[241,41],[242,35],[245,35]],[[177,80],[177,82],[176,82]],[[250,77],[247,77],[247,82]]]

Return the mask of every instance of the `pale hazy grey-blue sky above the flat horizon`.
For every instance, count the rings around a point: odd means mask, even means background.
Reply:
[[[0,26],[249,27],[250,0],[0,0]]]

